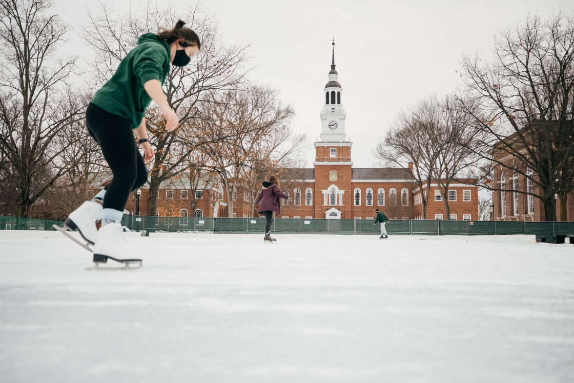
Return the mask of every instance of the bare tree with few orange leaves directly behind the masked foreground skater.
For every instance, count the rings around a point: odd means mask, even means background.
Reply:
[[[83,30],[84,40],[96,53],[92,70],[96,79],[104,83],[137,45],[141,34],[171,28],[179,19],[187,21],[198,34],[201,51],[187,67],[172,67],[166,79],[165,96],[180,117],[180,129],[166,132],[165,119],[153,104],[146,113],[150,144],[156,151],[150,169],[149,215],[155,215],[161,183],[185,168],[183,162],[188,153],[202,144],[199,137],[189,136],[190,132],[197,132],[197,101],[205,92],[234,89],[244,82],[248,46],[224,44],[214,16],[205,14],[197,5],[176,8],[168,3],[158,7],[148,1],[137,10],[130,8],[126,12],[100,5],[96,13],[88,9]]]

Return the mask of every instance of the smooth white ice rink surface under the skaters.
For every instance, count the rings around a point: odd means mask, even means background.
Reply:
[[[574,382],[574,245],[0,237],[0,381]]]

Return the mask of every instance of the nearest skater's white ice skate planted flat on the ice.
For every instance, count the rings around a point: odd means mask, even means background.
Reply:
[[[98,240],[94,244],[95,266],[89,270],[100,269],[99,265],[105,264],[108,259],[121,262],[125,266],[122,268],[105,268],[106,270],[138,269],[142,267],[142,260],[121,258],[127,254],[130,254],[130,250],[127,247],[126,239],[123,238],[121,223],[110,222],[98,231]],[[138,264],[138,266],[129,266],[130,264]]]

